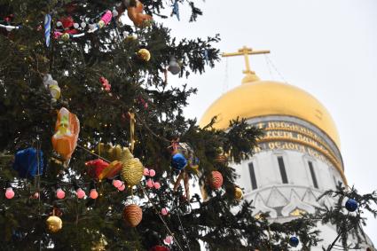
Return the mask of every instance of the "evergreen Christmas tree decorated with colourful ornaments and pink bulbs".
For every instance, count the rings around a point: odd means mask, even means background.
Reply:
[[[142,2],[0,1],[1,249],[315,245],[315,217],[271,224],[241,200],[229,162],[263,131],[185,119],[190,75],[215,66],[219,36],[177,41],[164,20],[182,7],[195,21],[195,4]]]

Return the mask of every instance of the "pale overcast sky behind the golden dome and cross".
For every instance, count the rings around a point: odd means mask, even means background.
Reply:
[[[188,23],[169,19],[177,37],[219,33],[221,51],[243,45],[271,50],[269,58],[285,81],[318,98],[338,127],[345,174],[358,191],[377,190],[377,1],[374,0],[207,0],[199,3],[204,16]],[[226,63],[226,61],[228,61]],[[263,80],[283,81],[263,55],[251,58]],[[169,75],[169,84],[183,82],[199,90],[185,109],[200,119],[224,90],[240,85],[242,57],[224,59],[204,75],[188,81]],[[377,220],[369,216],[367,234],[377,245]]]

